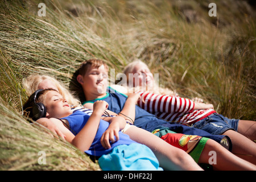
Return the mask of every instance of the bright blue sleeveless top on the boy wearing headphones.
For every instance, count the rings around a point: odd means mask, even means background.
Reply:
[[[84,127],[89,117],[90,115],[82,111],[76,111],[75,113],[69,115],[68,117],[61,118],[61,119],[66,119],[69,122],[70,129],[72,131],[75,131],[75,133],[77,134]],[[111,148],[105,149],[104,147],[102,147],[100,140],[101,140],[102,134],[106,131],[106,129],[108,129],[108,127],[109,127],[109,122],[106,122],[101,119],[96,136],[89,150],[85,151],[86,154],[93,155],[93,156],[101,156],[104,154],[109,154],[109,152],[112,151],[112,149],[115,146],[118,146],[120,144],[129,145],[131,143],[137,143],[131,140],[128,135],[123,134],[121,131],[119,131],[119,140],[117,140],[117,142],[114,142],[114,143],[110,141]]]

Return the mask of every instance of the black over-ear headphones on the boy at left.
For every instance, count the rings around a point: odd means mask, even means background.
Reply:
[[[36,121],[40,118],[46,117],[46,106],[43,105],[43,103],[36,103],[36,97],[40,92],[42,92],[43,89],[36,90],[31,96],[30,96],[30,105],[31,105],[31,111],[30,111],[30,117]]]

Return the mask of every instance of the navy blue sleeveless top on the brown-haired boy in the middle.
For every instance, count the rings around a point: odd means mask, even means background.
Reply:
[[[87,102],[93,103],[97,100],[103,100],[108,102],[109,110],[115,113],[119,113],[122,111],[126,99],[127,96],[125,94],[119,93],[116,90],[108,87],[105,97],[97,98],[92,101],[85,101],[83,102],[83,105]],[[224,135],[212,135],[207,131],[195,129],[189,126],[184,126],[179,123],[170,123],[164,121],[163,119],[157,118],[154,114],[148,113],[148,111],[142,109],[137,105],[135,106],[134,125],[150,132],[154,131],[155,129],[168,127],[170,130],[175,131],[176,133],[182,133],[187,135],[199,135],[201,137],[213,139],[218,143],[220,143],[221,139],[225,137]]]

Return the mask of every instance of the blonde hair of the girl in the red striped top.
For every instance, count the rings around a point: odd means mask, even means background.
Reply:
[[[129,73],[132,73],[133,72],[133,69],[135,67],[135,65],[138,65],[138,64],[143,64],[144,66],[147,66],[147,64],[145,64],[143,61],[139,60],[139,59],[136,59],[134,60],[133,62],[129,63],[126,65],[125,69],[123,69],[123,73],[125,73],[126,77],[127,77],[127,82],[129,81]],[[149,68],[148,68],[149,69]],[[150,69],[149,69],[150,70]],[[140,91],[142,88],[141,87],[137,87],[137,88],[129,88],[129,93],[131,92],[138,92]],[[144,90],[144,91],[150,91],[150,92],[154,92],[156,94],[167,94],[169,96],[177,96],[178,94],[173,91],[173,90],[170,90],[168,88],[161,88],[158,86],[158,84],[154,84],[154,88],[151,88],[153,90]]]

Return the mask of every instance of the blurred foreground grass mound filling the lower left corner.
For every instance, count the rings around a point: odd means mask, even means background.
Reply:
[[[0,103],[1,170],[98,170],[71,144],[53,138],[47,129],[32,126],[2,101]],[[40,164],[40,151],[46,164]]]

